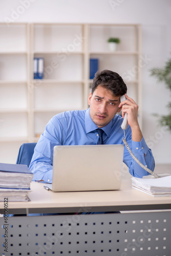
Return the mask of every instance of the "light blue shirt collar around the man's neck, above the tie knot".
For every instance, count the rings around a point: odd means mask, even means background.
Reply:
[[[90,112],[90,108],[86,110],[86,114],[85,114],[86,134],[98,129],[98,126],[92,121],[89,112]],[[102,130],[105,132],[105,134],[108,137],[111,134],[111,127],[112,127],[112,120],[110,121],[110,123],[102,127]]]

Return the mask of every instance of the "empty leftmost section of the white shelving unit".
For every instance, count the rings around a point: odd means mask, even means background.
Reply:
[[[29,25],[0,24],[0,34],[0,141],[29,141]]]

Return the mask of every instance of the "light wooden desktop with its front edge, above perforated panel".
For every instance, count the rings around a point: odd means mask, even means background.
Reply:
[[[131,178],[122,179],[118,191],[53,193],[45,183],[31,182],[30,202],[9,202],[9,213],[77,212],[171,209],[171,197],[152,197],[132,188]],[[4,204],[0,203],[1,213]]]

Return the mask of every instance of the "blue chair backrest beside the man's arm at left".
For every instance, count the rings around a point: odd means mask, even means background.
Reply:
[[[36,144],[37,143],[23,143],[19,148],[16,163],[26,164],[29,167]]]

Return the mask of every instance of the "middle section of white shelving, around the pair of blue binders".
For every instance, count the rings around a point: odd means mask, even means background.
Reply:
[[[31,59],[44,58],[44,79],[31,82],[32,139],[44,131],[47,121],[56,113],[83,109],[85,88],[85,45],[82,24],[32,24]],[[33,66],[31,66],[33,70]],[[46,118],[42,120],[42,116]],[[37,123],[41,119],[42,125]]]

